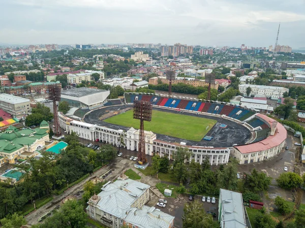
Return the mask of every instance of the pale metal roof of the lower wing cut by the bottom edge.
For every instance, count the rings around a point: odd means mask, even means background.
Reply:
[[[174,218],[167,213],[157,211],[155,207],[143,206],[142,210],[133,208],[124,220],[139,228],[160,228],[168,227],[173,223]]]

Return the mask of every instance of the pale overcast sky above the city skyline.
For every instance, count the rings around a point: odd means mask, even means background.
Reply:
[[[305,47],[305,0],[0,0],[0,43]]]

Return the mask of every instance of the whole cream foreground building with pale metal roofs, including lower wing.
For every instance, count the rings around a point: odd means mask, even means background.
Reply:
[[[103,185],[102,191],[88,201],[86,213],[100,223],[113,228],[172,228],[174,217],[147,207],[149,185],[120,175],[118,180]]]

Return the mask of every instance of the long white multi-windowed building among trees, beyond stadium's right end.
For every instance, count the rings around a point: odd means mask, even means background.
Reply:
[[[278,100],[279,97],[283,96],[284,92],[289,92],[288,88],[277,87],[277,86],[266,86],[266,85],[252,85],[252,84],[240,84],[239,91],[246,96],[247,88],[251,88],[250,95],[263,94],[265,97],[271,100]]]

